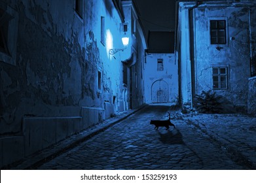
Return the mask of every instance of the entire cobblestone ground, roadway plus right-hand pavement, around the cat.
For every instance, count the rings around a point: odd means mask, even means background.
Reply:
[[[174,127],[154,129],[150,120]],[[35,169],[255,169],[256,120],[149,105]]]

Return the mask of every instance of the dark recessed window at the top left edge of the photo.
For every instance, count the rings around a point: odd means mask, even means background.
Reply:
[[[0,1],[0,61],[16,65],[18,13]]]

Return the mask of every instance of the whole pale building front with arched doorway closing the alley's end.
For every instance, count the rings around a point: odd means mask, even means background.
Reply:
[[[178,66],[174,54],[150,53],[145,56],[145,102],[178,102]]]

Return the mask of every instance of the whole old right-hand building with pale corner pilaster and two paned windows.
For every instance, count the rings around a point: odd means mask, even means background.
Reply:
[[[255,114],[255,1],[178,1],[176,7],[181,103],[192,106],[194,95],[212,90]]]

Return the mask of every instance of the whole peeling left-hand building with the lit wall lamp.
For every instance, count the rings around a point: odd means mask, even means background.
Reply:
[[[0,167],[143,104],[132,1],[6,0],[0,16]]]

